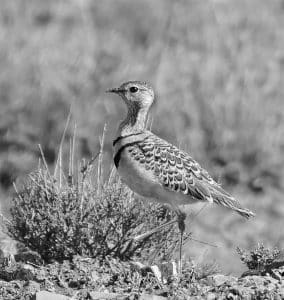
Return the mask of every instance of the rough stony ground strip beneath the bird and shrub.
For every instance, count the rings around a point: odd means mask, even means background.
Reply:
[[[240,278],[210,271],[206,275],[188,265],[179,281],[169,271],[172,263],[146,267],[108,257],[78,256],[42,264],[31,252],[2,259],[0,299],[283,299],[284,269],[280,265],[283,262],[266,274],[247,272]]]

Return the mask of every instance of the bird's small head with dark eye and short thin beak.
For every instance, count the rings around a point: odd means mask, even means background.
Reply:
[[[154,102],[153,89],[147,83],[141,81],[128,81],[107,92],[121,96],[128,107],[136,106],[148,110]]]

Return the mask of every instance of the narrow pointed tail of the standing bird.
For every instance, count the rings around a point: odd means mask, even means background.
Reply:
[[[241,206],[241,204],[225,192],[221,187],[218,187],[218,190],[214,189],[211,191],[211,196],[213,198],[213,202],[230,208],[240,214],[242,217],[249,219],[250,217],[254,217],[255,214],[247,208]]]

